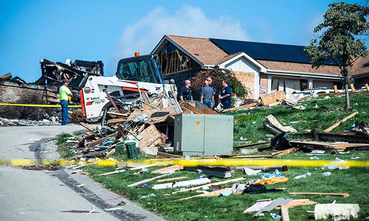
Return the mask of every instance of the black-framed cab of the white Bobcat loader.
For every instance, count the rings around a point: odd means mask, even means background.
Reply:
[[[157,55],[142,55],[121,59],[116,76],[120,80],[161,84],[156,58]]]

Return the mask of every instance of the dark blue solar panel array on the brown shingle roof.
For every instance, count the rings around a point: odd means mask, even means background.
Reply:
[[[310,58],[304,52],[304,46],[282,45],[249,41],[236,41],[210,38],[210,40],[226,53],[245,52],[253,59],[285,62],[310,63]],[[333,59],[324,64],[335,64]]]

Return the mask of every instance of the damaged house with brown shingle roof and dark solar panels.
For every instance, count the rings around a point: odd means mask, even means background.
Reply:
[[[311,68],[304,46],[164,35],[152,54],[159,55],[164,79],[175,79],[179,88],[200,70],[213,68],[234,71],[254,99],[281,90],[343,88],[338,66],[329,61],[318,70]],[[368,60],[359,58],[354,64],[357,88],[369,82]]]

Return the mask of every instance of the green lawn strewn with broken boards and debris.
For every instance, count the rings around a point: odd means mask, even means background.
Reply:
[[[342,123],[332,132],[343,132],[344,128],[349,128],[356,120],[369,121],[368,102],[369,96],[365,95],[350,95],[352,108],[359,111],[359,114],[353,118]],[[305,101],[302,103],[306,106],[306,110],[286,110],[283,107],[274,107],[270,109],[258,108],[250,111],[236,111],[230,114],[235,116],[235,119],[240,119],[235,123],[234,140],[240,141],[240,137],[247,138],[247,141],[257,142],[259,140],[268,141],[265,137],[269,134],[264,128],[262,121],[268,114],[273,114],[282,124],[290,125],[291,121],[299,121],[297,124],[291,124],[297,131],[304,132],[315,129],[318,132],[330,127],[332,124],[342,119],[343,115],[348,115],[353,111],[344,111],[344,97],[334,97],[328,100],[315,99],[313,101]],[[317,105],[318,108],[314,108]],[[324,108],[321,108],[324,107]],[[322,111],[323,110],[323,111]],[[240,113],[249,114],[240,114]],[[342,115],[341,115],[342,114]],[[255,122],[255,123],[253,123]],[[292,138],[289,138],[292,139]],[[62,142],[61,142],[62,143]],[[241,145],[237,143],[237,145]],[[252,147],[254,148],[254,147]],[[270,153],[265,151],[262,154]],[[350,151],[347,154],[340,154],[334,156],[325,154],[318,156],[320,160],[334,161],[336,157],[342,160],[351,160],[351,157],[359,156],[359,161],[369,161],[368,151]],[[141,156],[142,157],[142,156]],[[310,155],[300,152],[293,152],[288,155],[281,156],[277,159],[285,160],[308,160]],[[117,159],[125,160],[125,156]],[[149,172],[160,167],[151,167]],[[318,203],[332,203],[334,200],[337,203],[357,203],[360,206],[360,213],[358,219],[351,219],[355,221],[365,220],[369,216],[369,168],[357,167],[349,169],[320,169],[316,167],[289,167],[288,171],[281,172],[282,175],[289,178],[287,182],[277,183],[274,185],[266,185],[268,189],[286,187],[287,190],[278,193],[262,193],[262,194],[242,194],[230,195],[227,197],[198,197],[188,200],[173,202],[173,200],[184,198],[187,196],[197,195],[200,193],[185,192],[171,194],[173,190],[153,190],[152,185],[155,181],[149,182],[149,188],[128,188],[127,185],[135,183],[147,178],[152,178],[158,174],[143,173],[133,175],[136,171],[127,171],[124,173],[112,174],[108,176],[97,176],[97,174],[114,171],[113,167],[99,167],[88,166],[86,170],[90,172],[92,179],[102,183],[106,188],[113,192],[119,193],[133,200],[135,203],[142,205],[149,211],[152,211],[164,219],[169,221],[271,221],[269,213],[265,213],[264,217],[252,218],[252,214],[243,214],[243,211],[249,206],[253,205],[258,199],[277,197],[283,198],[309,198]],[[233,168],[235,169],[235,168]],[[331,171],[331,176],[323,177],[322,173]],[[311,177],[305,179],[294,180],[293,177],[311,173]],[[196,179],[198,174],[196,172],[181,171],[174,175],[165,177],[188,176],[189,179]],[[247,176],[242,172],[235,172],[233,178],[245,177],[246,180],[257,179],[259,176]],[[209,177],[212,182],[222,180],[221,178]],[[182,181],[182,180],[181,180]],[[232,184],[222,185],[222,188],[230,187]],[[350,193],[349,197],[334,197],[334,196],[310,196],[310,195],[288,195],[289,192],[326,192],[326,193]],[[156,196],[150,198],[141,198],[143,195],[154,193]],[[289,217],[292,221],[306,221],[314,220],[312,213],[307,213],[307,210],[314,210],[314,205],[299,206],[289,209]],[[272,210],[271,213],[280,214],[279,210]]]

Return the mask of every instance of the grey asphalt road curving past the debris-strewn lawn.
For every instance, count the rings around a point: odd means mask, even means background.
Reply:
[[[0,127],[0,160],[33,160],[41,139],[83,129],[81,126]],[[75,187],[82,182],[86,185]],[[111,201],[108,203],[107,200]],[[103,211],[116,201],[124,201],[127,205],[119,212]],[[94,212],[87,215],[92,208]],[[34,171],[0,165],[0,220],[138,221],[161,218],[102,189],[84,175],[72,178],[70,172],[63,169]]]

